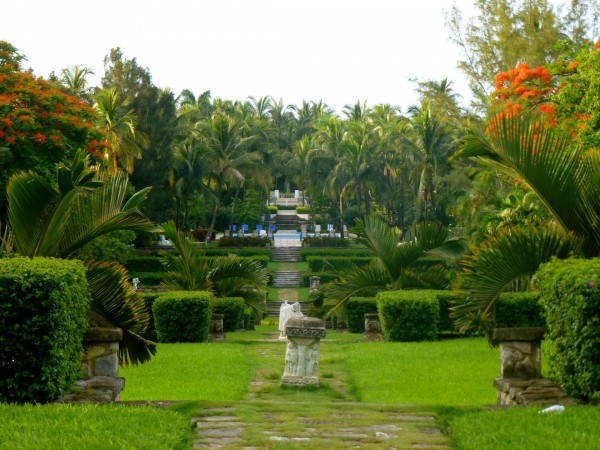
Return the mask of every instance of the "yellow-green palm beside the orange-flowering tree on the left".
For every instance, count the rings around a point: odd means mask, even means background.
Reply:
[[[121,166],[133,172],[133,160],[142,157],[142,147],[148,138],[136,130],[137,116],[119,98],[117,88],[103,89],[94,96],[98,112],[96,125],[106,137],[109,147],[104,154],[112,174]]]

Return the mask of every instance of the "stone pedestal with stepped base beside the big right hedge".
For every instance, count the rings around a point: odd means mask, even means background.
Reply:
[[[500,377],[494,380],[498,405],[573,404],[552,380],[542,378],[541,344],[545,328],[495,328],[500,345]]]

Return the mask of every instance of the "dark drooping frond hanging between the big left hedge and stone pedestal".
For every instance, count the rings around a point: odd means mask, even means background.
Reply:
[[[156,344],[141,337],[150,321],[142,296],[133,291],[129,274],[113,262],[88,261],[87,280],[92,303],[90,326],[122,328],[123,342],[119,348],[121,364],[137,365],[156,354]]]

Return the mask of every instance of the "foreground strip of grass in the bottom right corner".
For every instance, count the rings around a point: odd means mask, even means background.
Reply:
[[[460,450],[600,449],[600,407],[566,407],[562,414],[507,408],[456,414],[449,419]]]

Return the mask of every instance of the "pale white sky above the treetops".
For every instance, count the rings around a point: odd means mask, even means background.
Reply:
[[[465,17],[473,0],[1,0],[0,40],[47,77],[72,65],[93,69],[120,47],[148,68],[155,85],[179,94],[284,104],[323,100],[340,112],[357,101],[402,111],[417,101],[410,79],[453,81],[456,69],[444,11]]]

